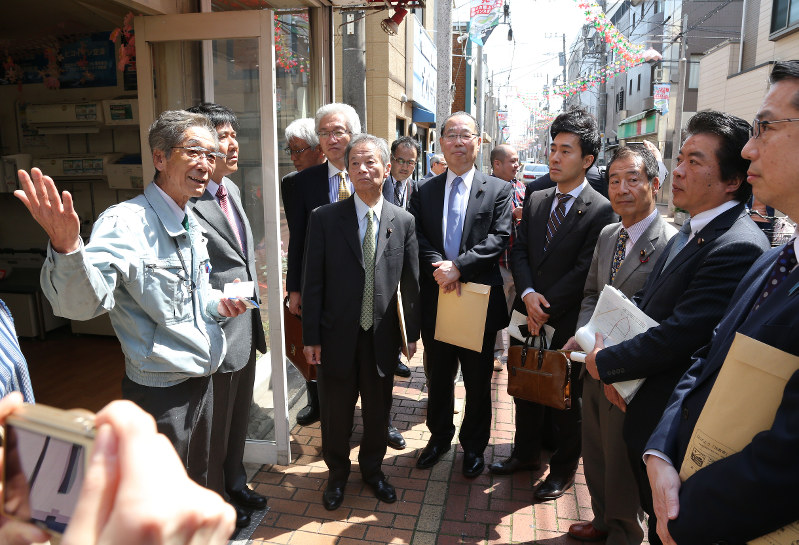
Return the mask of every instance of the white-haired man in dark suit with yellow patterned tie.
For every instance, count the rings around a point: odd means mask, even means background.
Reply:
[[[302,257],[305,250],[305,234],[311,212],[324,204],[344,200],[352,194],[352,183],[347,176],[344,154],[352,135],[361,132],[358,113],[349,104],[326,104],[319,108],[315,117],[319,145],[327,161],[298,172],[293,177],[293,190],[289,198],[286,221],[289,226],[288,264],[286,267],[286,291],[289,293],[289,310],[301,314],[300,289],[302,285]],[[319,420],[319,396],[316,382],[306,382],[308,405],[297,413],[301,426]]]

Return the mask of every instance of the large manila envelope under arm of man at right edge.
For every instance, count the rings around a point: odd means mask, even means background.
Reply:
[[[799,356],[736,333],[691,435],[680,479],[739,452],[771,428],[785,385],[798,369]],[[799,521],[749,543],[789,545],[797,538]]]

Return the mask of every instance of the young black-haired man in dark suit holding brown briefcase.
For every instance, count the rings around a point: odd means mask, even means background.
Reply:
[[[527,314],[533,335],[544,324],[555,329],[550,340],[563,346],[574,335],[583,286],[599,232],[616,219],[608,200],[586,180],[599,153],[596,119],[584,110],[559,115],[550,127],[550,176],[556,188],[537,191],[524,203],[522,221],[511,249],[511,271],[519,298],[516,308]],[[539,501],[558,498],[574,484],[580,459],[580,366],[572,367],[570,409],[549,410],[556,450],[549,475],[536,489]],[[499,474],[536,469],[541,464],[547,407],[523,399],[516,405],[516,435],[506,460],[491,465]]]

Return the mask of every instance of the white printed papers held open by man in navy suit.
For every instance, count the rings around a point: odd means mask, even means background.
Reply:
[[[596,334],[602,333],[605,346],[613,346],[632,339],[658,323],[646,315],[635,303],[613,286],[605,286],[599,294],[591,320],[577,330],[574,338],[586,352],[594,350]],[[629,403],[643,384],[644,379],[616,382],[613,386]]]

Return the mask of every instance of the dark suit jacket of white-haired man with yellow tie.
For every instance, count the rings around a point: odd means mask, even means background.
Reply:
[[[308,167],[294,177],[291,192],[291,212],[286,214],[289,226],[289,251],[286,267],[286,291],[302,291],[302,256],[308,218],[319,206],[330,204],[330,185],[327,180],[327,161]]]

